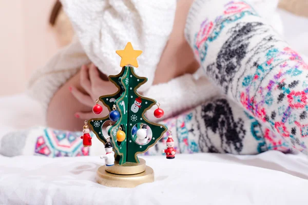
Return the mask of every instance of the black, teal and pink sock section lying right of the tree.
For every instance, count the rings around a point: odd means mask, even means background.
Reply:
[[[172,132],[177,153],[258,154],[267,150],[290,152],[291,146],[260,124],[234,101],[216,98],[160,123]],[[167,133],[145,155],[166,149]]]

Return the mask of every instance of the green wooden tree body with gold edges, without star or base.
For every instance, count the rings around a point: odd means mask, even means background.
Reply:
[[[132,66],[124,66],[118,75],[109,76],[109,80],[118,87],[118,91],[112,95],[105,95],[100,97],[100,101],[108,108],[109,112],[113,105],[116,106],[121,116],[117,122],[108,130],[110,142],[113,146],[114,152],[117,155],[115,160],[119,161],[120,165],[125,162],[139,162],[137,154],[146,152],[150,147],[154,146],[167,131],[164,125],[150,122],[145,117],[145,112],[152,106],[156,105],[156,100],[141,96],[137,89],[146,83],[146,77],[139,77],[134,72]],[[135,100],[140,98],[142,100],[140,107],[135,106]],[[138,109],[137,109],[138,108]],[[109,116],[103,118],[90,119],[88,124],[103,144],[106,143],[106,137],[103,135],[103,124],[110,121]],[[137,144],[136,136],[132,135],[132,128],[134,125],[146,124],[152,131],[152,138],[146,145]],[[122,142],[117,142],[117,131],[121,126],[122,131],[125,132],[126,138]],[[103,148],[102,148],[103,149]]]

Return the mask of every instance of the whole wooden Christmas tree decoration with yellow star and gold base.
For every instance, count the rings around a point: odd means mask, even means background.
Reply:
[[[164,125],[150,122],[145,113],[152,106],[157,105],[156,100],[141,96],[137,89],[146,83],[146,77],[139,77],[132,66],[138,67],[137,57],[142,51],[133,50],[128,43],[124,50],[117,51],[121,56],[122,71],[118,75],[110,75],[109,80],[118,87],[118,91],[111,95],[101,96],[99,100],[111,112],[118,113],[107,115],[103,118],[88,120],[88,124],[100,141],[105,143],[110,136],[115,153],[113,166],[102,166],[97,171],[98,183],[108,187],[136,187],[146,182],[154,181],[154,171],[146,166],[144,159],[138,154],[146,152],[154,146],[167,131]],[[110,121],[115,120],[114,125]],[[103,127],[109,121],[108,129]],[[152,137],[146,144],[139,144],[136,140],[136,126],[146,125],[151,130]],[[103,135],[103,130],[107,135]],[[109,139],[108,139],[109,140]]]

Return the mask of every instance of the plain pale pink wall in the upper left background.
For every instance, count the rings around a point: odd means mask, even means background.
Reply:
[[[55,0],[0,0],[0,96],[25,91],[38,67],[59,49],[48,24]]]

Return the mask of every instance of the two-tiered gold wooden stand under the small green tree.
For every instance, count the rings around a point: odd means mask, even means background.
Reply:
[[[154,181],[154,171],[139,158],[139,163],[126,162],[113,166],[102,166],[97,171],[97,182],[107,187],[134,188],[142,183]]]

